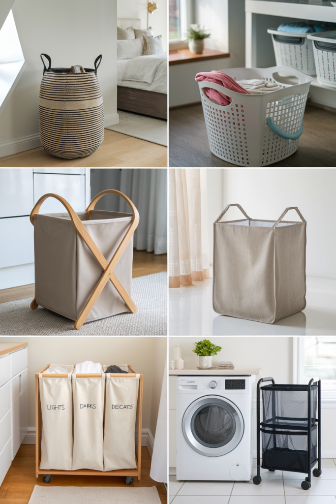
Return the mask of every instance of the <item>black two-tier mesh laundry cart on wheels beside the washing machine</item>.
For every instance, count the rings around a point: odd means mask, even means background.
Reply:
[[[272,382],[264,385],[262,382]],[[260,422],[260,390],[262,422]],[[316,412],[317,418],[316,418]],[[312,378],[308,385],[278,385],[272,377],[257,384],[257,475],[253,483],[261,483],[260,467],[269,471],[292,471],[308,474],[301,487],[311,486],[311,469],[318,462],[313,476],[321,471],[321,382]],[[260,431],[262,462],[260,465]]]

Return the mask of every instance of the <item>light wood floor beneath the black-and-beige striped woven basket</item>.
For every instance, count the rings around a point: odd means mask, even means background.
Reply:
[[[0,158],[0,166],[29,167],[112,167],[165,168],[167,147],[105,130],[105,140],[99,149],[85,158],[61,159],[50,156],[43,147]]]

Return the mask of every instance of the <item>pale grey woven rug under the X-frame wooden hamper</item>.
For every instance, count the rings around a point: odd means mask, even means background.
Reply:
[[[165,336],[167,334],[167,272],[132,279],[136,313],[121,313],[88,322],[81,329],[74,321],[39,306],[32,297],[0,303],[1,336]]]

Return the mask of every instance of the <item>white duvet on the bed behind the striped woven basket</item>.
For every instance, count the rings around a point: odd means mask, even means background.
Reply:
[[[118,86],[167,94],[167,54],[118,59]]]

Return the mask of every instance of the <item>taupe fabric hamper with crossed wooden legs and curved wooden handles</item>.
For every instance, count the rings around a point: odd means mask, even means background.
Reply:
[[[124,198],[132,213],[95,210],[97,201],[109,193]],[[39,214],[49,197],[62,203],[68,213]],[[137,311],[130,294],[139,212],[127,196],[108,189],[85,211],[75,212],[62,197],[46,194],[34,206],[30,221],[35,253],[33,310],[41,305],[55,311],[76,321],[76,329],[85,322]]]

